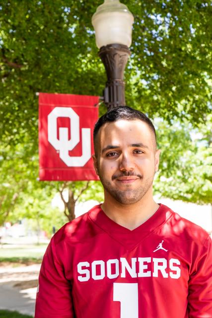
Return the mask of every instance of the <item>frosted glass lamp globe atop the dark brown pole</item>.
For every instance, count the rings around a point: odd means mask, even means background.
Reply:
[[[92,16],[98,48],[108,44],[132,43],[133,14],[119,0],[104,0]]]

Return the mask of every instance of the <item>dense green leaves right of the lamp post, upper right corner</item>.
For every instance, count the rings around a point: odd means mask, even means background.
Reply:
[[[204,119],[212,110],[211,2],[128,3],[135,15],[130,77],[137,105],[168,121]]]

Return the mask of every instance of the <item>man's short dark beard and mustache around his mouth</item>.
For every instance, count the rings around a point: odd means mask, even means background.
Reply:
[[[147,179],[143,179],[143,177],[140,174],[135,174],[135,172],[123,172],[119,175],[113,175],[112,180],[115,180],[121,176],[138,176],[140,180],[142,180],[142,185],[138,186],[136,189],[132,189],[131,184],[126,185],[125,190],[120,190],[117,187],[115,187],[114,183],[110,182],[109,180],[106,180],[101,173],[99,173],[100,181],[103,185],[103,188],[105,191],[107,191],[116,201],[118,201],[121,204],[134,204],[139,202],[143,196],[146,194],[146,192],[150,189],[153,179],[154,179],[154,173]]]

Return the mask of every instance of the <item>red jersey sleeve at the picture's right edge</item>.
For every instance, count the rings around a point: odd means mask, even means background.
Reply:
[[[212,240],[206,239],[189,279],[189,318],[212,318]]]

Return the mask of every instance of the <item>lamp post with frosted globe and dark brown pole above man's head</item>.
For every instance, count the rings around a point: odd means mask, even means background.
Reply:
[[[125,105],[124,70],[130,56],[133,22],[133,14],[119,0],[104,0],[92,16],[96,45],[107,73],[103,97],[108,110]]]

